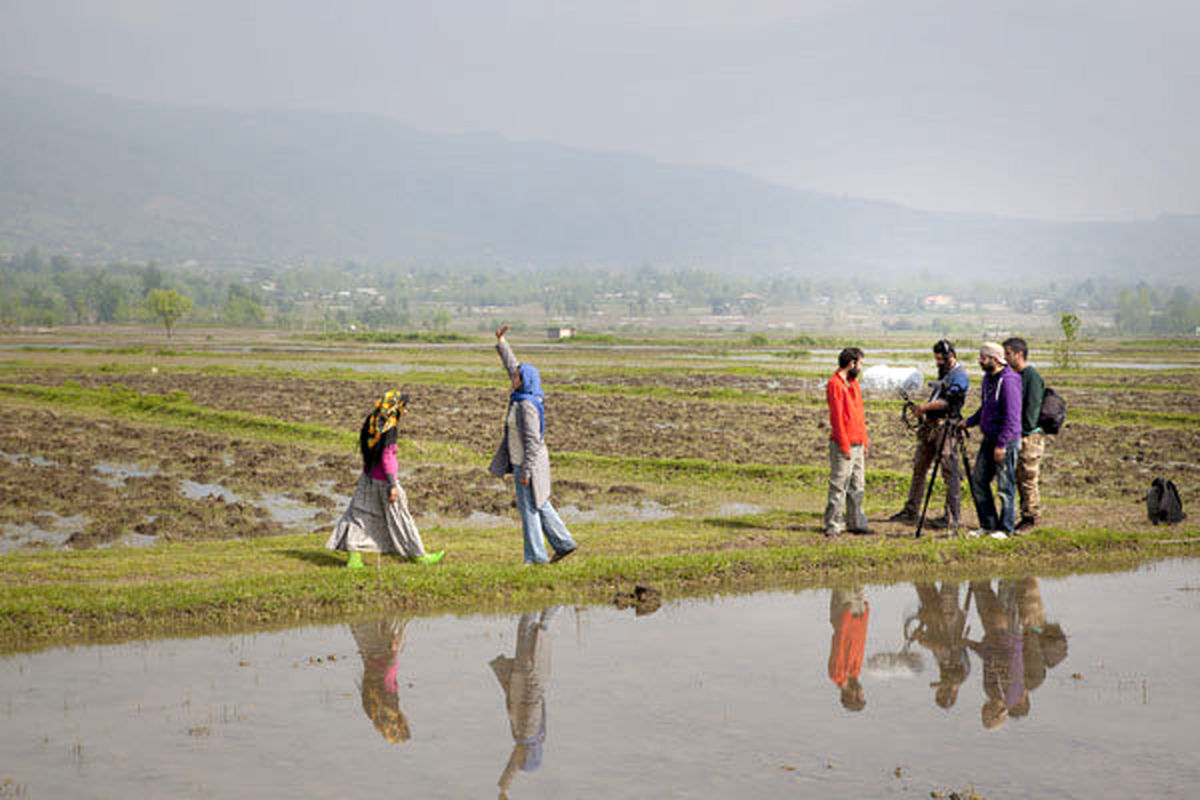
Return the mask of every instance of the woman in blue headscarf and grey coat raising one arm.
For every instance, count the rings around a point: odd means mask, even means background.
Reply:
[[[504,415],[504,438],[492,458],[491,473],[504,477],[512,473],[524,533],[526,564],[562,560],[575,552],[575,540],[550,503],[550,452],[546,450],[546,407],[541,375],[529,363],[520,363],[504,339],[509,326],[496,331],[496,351],[512,380],[509,408]],[[542,536],[554,549],[546,558]]]

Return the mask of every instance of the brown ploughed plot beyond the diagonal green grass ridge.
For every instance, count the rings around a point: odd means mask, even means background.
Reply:
[[[972,377],[978,383],[978,377]],[[1139,380],[1140,378],[1140,380]],[[11,383],[60,384],[76,381],[84,387],[125,385],[140,392],[186,392],[196,403],[216,409],[250,411],[296,422],[316,422],[355,431],[371,403],[394,384],[356,380],[307,380],[205,375],[196,373],[119,374],[94,372],[30,371],[11,373]],[[828,416],[823,389],[811,378],[791,381],[744,375],[664,375],[661,385],[674,389],[737,389],[778,391],[797,402],[772,404],[713,402],[707,399],[659,399],[637,396],[554,393],[553,374],[547,374],[547,441],[551,451],[588,451],[605,456],[706,458],[731,463],[823,463],[828,441]],[[620,386],[618,375],[608,386]],[[1050,379],[1052,383],[1052,378]],[[1140,375],[1105,377],[1103,389],[1063,387],[1073,413],[1145,410],[1200,413],[1200,375],[1154,375],[1157,386],[1170,391],[1141,391],[1150,379]],[[578,383],[570,374],[564,384]],[[1165,383],[1164,383],[1165,381]],[[588,383],[605,385],[595,377]],[[644,378],[637,381],[644,385]],[[508,392],[500,380],[494,390],[400,384],[415,398],[406,421],[415,440],[451,441],[481,453],[491,451],[500,432]],[[630,385],[634,385],[632,383]],[[1086,384],[1085,384],[1086,385]],[[900,402],[876,397],[868,409],[875,465],[905,470],[911,458],[911,433],[900,422]],[[976,398],[967,404],[973,410]],[[972,452],[973,456],[973,452]],[[1096,425],[1068,419],[1067,429],[1052,444],[1044,469],[1048,483],[1062,493],[1094,492],[1110,495],[1135,477],[1181,470],[1200,474],[1200,426],[1152,427],[1148,425]],[[1146,481],[1141,479],[1146,477]]]

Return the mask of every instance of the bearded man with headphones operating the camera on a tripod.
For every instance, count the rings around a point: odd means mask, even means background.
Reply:
[[[913,408],[920,425],[917,428],[917,452],[912,457],[908,500],[888,521],[913,524],[918,521],[925,494],[925,473],[935,458],[941,458],[946,480],[946,512],[937,519],[930,519],[928,524],[930,528],[956,529],[962,505],[962,473],[956,458],[960,434],[954,426],[962,413],[971,381],[949,339],[940,339],[934,344],[934,361],[937,363],[937,381],[930,384],[932,391],[929,401]],[[947,432],[948,425],[952,428]],[[942,447],[941,453],[937,452],[938,445]]]

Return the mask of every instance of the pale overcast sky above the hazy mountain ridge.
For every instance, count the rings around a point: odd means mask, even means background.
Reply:
[[[923,209],[1200,212],[1200,0],[0,0],[0,72]]]

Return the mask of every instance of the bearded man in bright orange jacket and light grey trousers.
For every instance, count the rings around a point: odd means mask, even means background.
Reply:
[[[863,513],[866,491],[866,415],[858,373],[863,351],[846,348],[838,355],[838,371],[826,384],[829,402],[829,501],[826,504],[826,536],[848,527],[852,534],[875,533]]]

